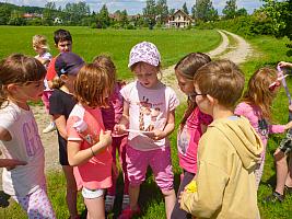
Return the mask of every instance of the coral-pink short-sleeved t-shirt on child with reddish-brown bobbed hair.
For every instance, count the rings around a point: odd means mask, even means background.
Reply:
[[[81,141],[80,150],[84,150],[90,148],[91,145],[83,140],[75,128],[73,128],[73,125],[81,119],[84,120],[87,126],[93,127],[93,129],[104,130],[105,128],[100,108],[84,108],[80,104],[73,107],[67,120],[68,141]],[[100,132],[97,135],[100,135]],[[81,189],[83,186],[90,189],[110,187],[112,162],[112,151],[107,148],[105,151],[90,159],[86,163],[74,166],[74,177],[78,188]]]

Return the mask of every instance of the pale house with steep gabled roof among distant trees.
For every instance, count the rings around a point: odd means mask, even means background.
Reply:
[[[184,28],[192,23],[192,19],[184,11],[178,9],[173,15],[168,18],[167,27]]]

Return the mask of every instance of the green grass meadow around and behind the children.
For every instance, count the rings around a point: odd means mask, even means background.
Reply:
[[[3,31],[4,32],[3,32]],[[49,38],[52,47],[52,32],[54,27],[0,27],[0,56],[7,56],[10,53],[21,51],[33,55],[31,48],[31,37],[34,34],[45,34]],[[213,31],[97,31],[83,27],[70,27],[73,35],[74,47],[73,50],[84,57],[85,60],[91,60],[100,53],[108,53],[113,55],[114,60],[119,69],[120,78],[127,79],[130,77],[127,70],[127,57],[130,47],[139,41],[154,42],[163,57],[163,66],[175,64],[183,55],[190,51],[208,51],[214,48],[220,43],[219,35]],[[82,31],[82,33],[81,33]],[[17,32],[17,33],[16,33]],[[10,33],[10,34],[9,34]],[[9,36],[10,35],[10,36]],[[13,36],[13,37],[12,37]],[[3,38],[4,37],[4,38]],[[21,37],[21,41],[16,41]],[[12,39],[14,38],[14,39]],[[103,38],[103,41],[102,41]],[[112,41],[110,41],[112,39]],[[15,44],[13,42],[15,41]],[[84,41],[84,42],[83,42]],[[9,43],[10,42],[10,43]],[[25,43],[23,43],[25,42]],[[100,42],[100,43],[98,43]],[[247,62],[242,65],[242,69],[248,80],[250,74],[261,66],[275,66],[280,60],[292,61],[291,58],[284,55],[287,38],[276,39],[268,36],[258,36],[248,39],[254,50],[254,56]],[[22,47],[25,46],[25,47]],[[57,54],[51,48],[52,54]],[[288,83],[292,89],[292,79],[288,78]],[[284,124],[288,117],[288,100],[284,90],[281,89],[273,105],[275,123]],[[176,127],[183,116],[185,104],[180,104],[176,111]],[[271,136],[268,142],[267,160],[262,182],[259,186],[258,203],[260,215],[264,219],[288,219],[292,218],[292,196],[288,196],[283,204],[264,204],[262,199],[270,195],[276,182],[276,173],[273,168],[272,153],[278,147],[283,135]],[[176,131],[171,136],[172,142],[172,159],[175,173],[175,186],[179,185],[180,169],[178,166],[177,150],[176,150]],[[57,212],[58,218],[68,218],[68,212],[65,205],[65,178],[62,173],[52,172],[48,174],[48,192]],[[118,194],[122,194],[121,176],[119,177]],[[118,196],[115,211],[109,215],[109,218],[115,218],[120,212],[120,196]],[[141,186],[141,194],[139,199],[142,206],[142,216],[140,218],[161,219],[164,218],[164,201],[163,197],[155,185],[151,172],[144,184]],[[244,205],[244,204],[243,204]],[[84,214],[84,205],[81,197],[79,198],[80,212]],[[25,218],[25,215],[15,204],[7,208],[0,207],[0,218]]]

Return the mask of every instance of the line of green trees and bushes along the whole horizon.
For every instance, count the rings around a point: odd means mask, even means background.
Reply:
[[[200,28],[226,28],[232,32],[253,36],[258,34],[287,36],[292,41],[292,0],[262,0],[264,5],[248,14],[238,9],[236,0],[226,0],[219,15],[211,0],[194,0],[189,10],[186,2],[182,11],[188,14]],[[38,16],[25,19],[24,13]],[[117,10],[110,14],[106,4],[98,12],[90,10],[85,2],[67,3],[57,9],[54,1],[45,8],[17,7],[0,2],[0,25],[83,25],[97,28],[137,28],[162,27],[175,9],[168,9],[166,0],[147,0],[141,14],[128,15],[127,10]],[[292,55],[292,44],[287,45],[288,55]]]

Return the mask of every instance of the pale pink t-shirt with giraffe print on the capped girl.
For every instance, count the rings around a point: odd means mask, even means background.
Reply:
[[[163,83],[155,89],[147,89],[135,81],[124,87],[120,93],[129,104],[129,128],[135,130],[163,130],[168,113],[179,104],[175,92]],[[128,143],[142,151],[170,146],[167,138],[153,140],[139,132],[129,132]]]

